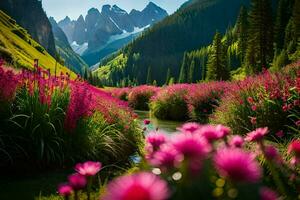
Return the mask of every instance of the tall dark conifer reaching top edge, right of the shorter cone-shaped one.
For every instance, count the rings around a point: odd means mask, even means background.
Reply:
[[[269,67],[273,59],[273,21],[270,0],[252,0],[249,14],[247,65],[253,73]],[[254,55],[249,55],[254,53]]]

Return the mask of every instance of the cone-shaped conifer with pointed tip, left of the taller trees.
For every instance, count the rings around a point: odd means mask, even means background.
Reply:
[[[207,80],[227,80],[229,72],[226,66],[225,53],[221,42],[221,34],[217,32],[214,37],[212,52],[207,62]]]

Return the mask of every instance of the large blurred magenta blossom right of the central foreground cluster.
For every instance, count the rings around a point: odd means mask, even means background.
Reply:
[[[239,148],[223,148],[214,156],[214,165],[218,173],[236,182],[257,182],[261,177],[261,168],[254,156]]]

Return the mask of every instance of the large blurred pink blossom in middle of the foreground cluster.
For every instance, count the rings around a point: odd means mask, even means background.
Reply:
[[[205,139],[197,135],[179,134],[174,137],[173,146],[184,158],[204,158],[211,146]]]

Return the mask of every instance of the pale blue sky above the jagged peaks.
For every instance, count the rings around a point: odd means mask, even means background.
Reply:
[[[186,0],[152,0],[155,4],[173,13]],[[92,8],[101,10],[104,4],[116,4],[127,12],[135,8],[142,10],[150,1],[149,0],[43,0],[43,7],[48,16],[61,20],[66,16],[71,19],[77,19],[79,15],[86,15],[87,11]]]

